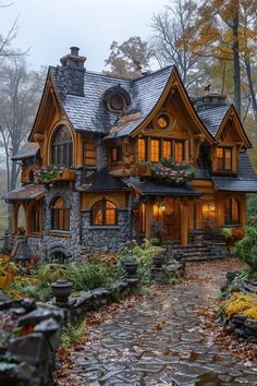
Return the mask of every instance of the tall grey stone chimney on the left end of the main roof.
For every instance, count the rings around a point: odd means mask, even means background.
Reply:
[[[71,47],[71,52],[61,58],[62,88],[64,94],[84,96],[84,74],[86,57],[78,55],[79,48]]]

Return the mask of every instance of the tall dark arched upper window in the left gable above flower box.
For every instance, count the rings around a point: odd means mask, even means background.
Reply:
[[[73,144],[70,130],[57,129],[51,143],[51,164],[70,168],[73,164]]]

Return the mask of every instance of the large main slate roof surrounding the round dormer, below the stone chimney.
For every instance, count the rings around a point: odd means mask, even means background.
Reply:
[[[66,94],[62,97],[64,110],[77,131],[108,134],[110,129],[114,126],[109,137],[127,135],[155,107],[173,69],[173,67],[168,67],[135,80],[125,80],[85,71],[85,97]],[[59,71],[59,67],[50,67],[57,89],[61,95],[61,85],[58,84],[60,77]],[[117,128],[120,114],[106,109],[102,96],[108,88],[118,85],[128,93],[132,100],[132,104],[125,111],[125,116],[130,117],[132,114],[135,118],[134,113],[136,112],[137,117],[136,120],[133,119],[133,122],[130,121]]]

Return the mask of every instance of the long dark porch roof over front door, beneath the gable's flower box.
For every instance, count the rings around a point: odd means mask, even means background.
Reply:
[[[163,183],[140,181],[139,178],[130,179],[130,185],[142,195],[170,195],[170,196],[199,196],[201,195],[191,185],[171,186]]]

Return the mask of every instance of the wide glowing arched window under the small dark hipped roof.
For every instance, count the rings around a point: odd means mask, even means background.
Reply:
[[[118,224],[117,206],[102,198],[91,208],[91,225],[94,226],[114,226]]]

